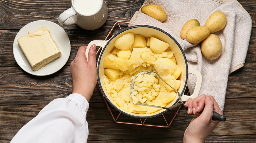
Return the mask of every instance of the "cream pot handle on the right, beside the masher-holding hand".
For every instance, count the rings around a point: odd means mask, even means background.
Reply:
[[[196,69],[194,69],[188,65],[188,74],[189,73],[191,73],[197,77],[196,86],[195,86],[195,90],[192,95],[190,95],[190,96],[182,95],[181,96],[182,101],[187,101],[189,98],[196,98],[199,94],[199,91],[200,91],[200,88],[202,85],[202,74],[199,71],[197,71]]]

